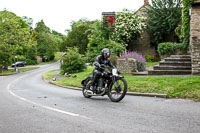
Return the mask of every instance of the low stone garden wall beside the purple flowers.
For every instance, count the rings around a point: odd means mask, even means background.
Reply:
[[[137,62],[134,58],[122,58],[117,60],[117,69],[124,74],[131,74],[137,71]]]

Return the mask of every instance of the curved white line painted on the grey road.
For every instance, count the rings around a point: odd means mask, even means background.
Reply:
[[[37,72],[38,72],[38,71],[37,71]],[[32,72],[32,73],[34,73],[34,72]],[[30,73],[29,73],[29,74],[30,74]],[[59,113],[62,113],[62,114],[70,115],[70,116],[81,117],[81,118],[84,118],[84,119],[91,119],[91,118],[88,118],[88,117],[83,116],[83,115],[80,115],[80,114],[76,114],[76,113],[72,113],[72,112],[67,112],[67,111],[63,111],[63,110],[59,110],[59,109],[56,109],[56,108],[52,108],[52,107],[48,107],[48,106],[45,106],[45,105],[41,105],[41,104],[35,103],[35,102],[30,101],[30,100],[28,100],[28,99],[25,99],[25,98],[23,98],[23,97],[21,97],[21,96],[18,96],[17,94],[15,94],[14,92],[12,92],[12,91],[11,91],[11,88],[10,88],[11,84],[12,84],[13,82],[19,80],[19,79],[22,79],[22,78],[26,77],[26,76],[28,76],[28,74],[27,74],[27,75],[24,75],[24,76],[22,76],[22,77],[20,77],[20,78],[18,78],[18,79],[15,79],[15,80],[13,80],[12,82],[10,82],[10,83],[8,84],[8,86],[7,86],[7,91],[8,91],[11,95],[13,95],[14,97],[16,97],[16,98],[18,98],[18,99],[20,99],[20,100],[23,100],[23,101],[25,101],[25,102],[27,102],[27,103],[30,103],[30,104],[33,104],[33,105],[36,105],[36,106],[39,106],[39,107],[42,107],[42,108],[45,108],[45,109],[48,109],[48,110],[52,110],[52,111],[55,111],[55,112],[59,112]]]

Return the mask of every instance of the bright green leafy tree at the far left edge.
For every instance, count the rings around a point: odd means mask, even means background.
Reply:
[[[0,72],[2,66],[11,63],[18,49],[22,49],[29,38],[30,29],[21,17],[9,11],[0,12]]]

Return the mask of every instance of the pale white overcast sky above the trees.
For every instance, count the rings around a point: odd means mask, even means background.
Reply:
[[[102,12],[137,10],[143,4],[144,0],[0,0],[0,11],[6,8],[17,16],[30,17],[33,27],[43,19],[51,30],[66,34],[73,20],[100,20]]]

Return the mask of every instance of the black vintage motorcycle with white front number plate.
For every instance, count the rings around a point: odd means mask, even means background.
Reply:
[[[126,80],[123,76],[118,75],[119,71],[116,68],[106,70],[106,67],[101,67],[100,69],[102,69],[103,73],[101,78],[95,83],[94,91],[90,90],[92,76],[88,76],[81,82],[84,97],[108,95],[112,102],[121,101],[127,92]]]

